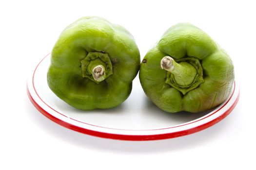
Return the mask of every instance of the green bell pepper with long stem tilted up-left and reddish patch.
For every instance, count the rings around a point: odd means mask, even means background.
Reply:
[[[194,25],[169,28],[139,71],[145,94],[167,112],[200,112],[224,102],[234,83],[228,54]]]

